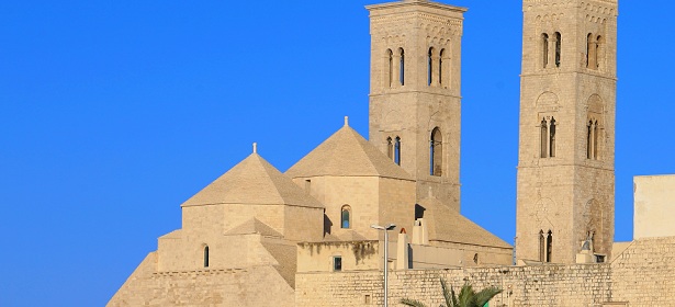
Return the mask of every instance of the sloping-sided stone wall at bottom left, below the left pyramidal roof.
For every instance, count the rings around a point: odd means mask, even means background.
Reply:
[[[294,306],[293,288],[271,265],[155,272],[150,253],[106,306]]]

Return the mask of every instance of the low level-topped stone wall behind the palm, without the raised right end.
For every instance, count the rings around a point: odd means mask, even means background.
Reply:
[[[606,264],[465,268],[393,271],[390,304],[403,297],[428,306],[442,302],[439,277],[455,288],[504,288],[491,306],[601,306],[610,302],[611,274]],[[381,272],[304,273],[295,280],[296,306],[382,305]]]

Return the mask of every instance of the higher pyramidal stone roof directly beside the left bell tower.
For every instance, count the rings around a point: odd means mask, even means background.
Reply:
[[[347,123],[291,167],[285,174],[290,178],[345,175],[413,180],[406,171]]]

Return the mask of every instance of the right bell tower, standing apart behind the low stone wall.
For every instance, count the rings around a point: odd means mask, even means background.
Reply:
[[[614,240],[618,0],[524,0],[516,257]]]

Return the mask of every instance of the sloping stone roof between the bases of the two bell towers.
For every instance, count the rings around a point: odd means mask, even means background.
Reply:
[[[443,205],[437,198],[424,198],[419,202],[419,205],[426,208],[424,219],[427,223],[429,240],[511,248],[509,243],[462,216],[459,212]]]

